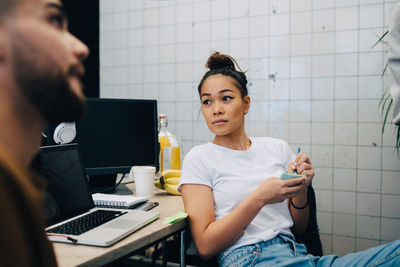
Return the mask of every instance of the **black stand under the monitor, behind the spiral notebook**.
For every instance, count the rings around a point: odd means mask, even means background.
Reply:
[[[89,175],[89,186],[92,193],[132,195],[132,191],[125,185],[116,186],[117,174]]]

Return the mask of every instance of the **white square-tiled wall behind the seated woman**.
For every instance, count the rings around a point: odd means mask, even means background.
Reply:
[[[392,0],[100,0],[101,97],[151,98],[184,151],[211,140],[197,85],[212,51],[249,69],[250,136],[316,168],[325,253],[400,238],[400,157],[378,103]]]

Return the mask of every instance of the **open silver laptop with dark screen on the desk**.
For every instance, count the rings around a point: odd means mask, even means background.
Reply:
[[[160,216],[157,211],[95,208],[81,162],[78,144],[41,147],[32,161],[32,168],[47,180],[44,219],[49,240],[107,247]]]

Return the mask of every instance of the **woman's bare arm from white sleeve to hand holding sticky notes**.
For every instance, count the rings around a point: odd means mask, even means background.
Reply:
[[[297,186],[293,186],[297,185]],[[282,202],[304,189],[305,178],[280,180],[269,178],[251,192],[230,214],[215,221],[214,198],[205,185],[184,184],[181,187],[190,230],[199,255],[208,259],[230,246],[242,234],[266,204]]]

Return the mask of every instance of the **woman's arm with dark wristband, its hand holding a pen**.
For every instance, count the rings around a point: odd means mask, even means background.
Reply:
[[[314,168],[308,156],[299,153],[296,156],[296,160],[289,164],[289,172],[293,172],[294,169],[297,169],[297,173],[307,177],[305,188],[288,201],[290,214],[293,219],[291,230],[293,234],[298,235],[304,233],[308,226],[310,210],[308,206],[307,189],[314,177]]]

